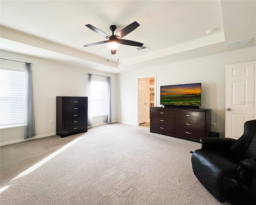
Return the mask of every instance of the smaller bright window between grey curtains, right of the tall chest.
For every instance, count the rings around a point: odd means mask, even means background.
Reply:
[[[92,79],[91,81],[91,99],[92,116],[104,115],[107,112],[108,83],[106,78]]]

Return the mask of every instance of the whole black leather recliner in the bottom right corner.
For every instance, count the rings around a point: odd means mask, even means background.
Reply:
[[[245,122],[238,140],[208,137],[200,142],[202,148],[193,152],[191,161],[202,185],[222,203],[255,205],[256,120]]]

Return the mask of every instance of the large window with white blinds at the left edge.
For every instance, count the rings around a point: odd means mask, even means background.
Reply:
[[[25,123],[25,71],[22,67],[0,68],[0,128]]]

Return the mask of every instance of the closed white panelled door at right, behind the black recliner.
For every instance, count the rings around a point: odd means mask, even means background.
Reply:
[[[256,61],[226,65],[225,137],[238,139],[256,119]]]

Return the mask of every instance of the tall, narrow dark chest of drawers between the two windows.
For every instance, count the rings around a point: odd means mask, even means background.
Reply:
[[[87,97],[56,97],[56,134],[87,132]]]

